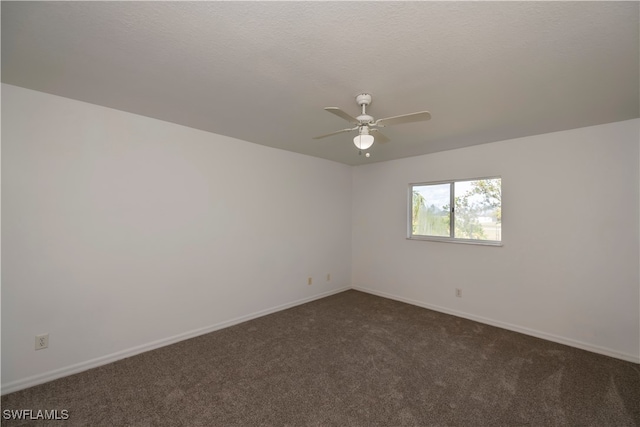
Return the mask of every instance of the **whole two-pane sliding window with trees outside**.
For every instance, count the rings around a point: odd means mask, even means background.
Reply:
[[[409,185],[409,238],[501,245],[502,179]]]

